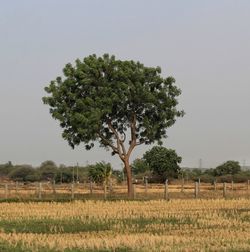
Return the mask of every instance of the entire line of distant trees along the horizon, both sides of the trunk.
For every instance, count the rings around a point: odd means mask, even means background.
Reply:
[[[180,168],[182,158],[172,149],[155,146],[141,159],[136,159],[131,167],[135,181],[147,178],[149,182],[164,182],[166,179],[183,178],[213,183],[245,182],[250,179],[250,171],[242,171],[239,162],[227,161],[216,168]],[[35,182],[55,181],[56,183],[86,182],[108,183],[111,178],[121,182],[126,172],[114,170],[109,163],[99,162],[87,166],[57,166],[53,161],[45,161],[39,167],[13,165],[11,162],[0,165],[0,176],[14,181]]]

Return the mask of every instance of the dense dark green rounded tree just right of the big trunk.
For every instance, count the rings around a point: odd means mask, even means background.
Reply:
[[[176,177],[180,171],[179,164],[182,160],[175,150],[162,146],[154,146],[143,155],[143,159],[149,165],[153,174],[157,175],[161,181]]]

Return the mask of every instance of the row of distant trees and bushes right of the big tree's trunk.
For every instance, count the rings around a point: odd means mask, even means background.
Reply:
[[[250,170],[242,171],[238,161],[229,160],[210,169],[181,169],[178,165],[180,162],[181,157],[174,150],[157,146],[146,152],[143,158],[136,159],[132,164],[132,171],[135,177],[143,174],[154,182],[163,182],[172,178],[200,179],[202,182],[209,183],[246,182],[250,179]]]

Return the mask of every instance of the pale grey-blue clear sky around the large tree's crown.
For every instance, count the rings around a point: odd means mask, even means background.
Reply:
[[[0,6],[0,163],[86,164],[118,158],[71,150],[42,104],[76,58],[110,53],[161,66],[182,89],[184,118],[164,141],[182,166],[250,163],[250,1],[11,0]],[[140,146],[132,159],[150,147]]]

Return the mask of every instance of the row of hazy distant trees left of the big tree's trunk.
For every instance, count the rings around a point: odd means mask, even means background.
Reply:
[[[13,165],[11,162],[0,164],[0,177],[20,182],[55,181],[56,183],[72,183],[93,181],[103,183],[111,175],[117,181],[123,180],[123,172],[113,170],[111,164],[99,162],[87,166],[57,166],[48,160],[39,167],[31,165]]]

